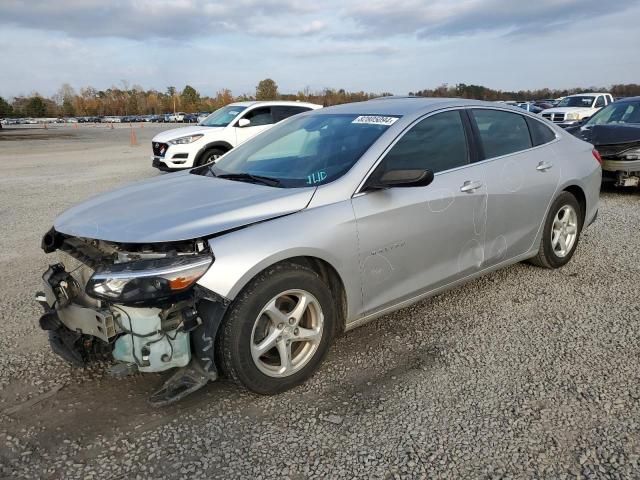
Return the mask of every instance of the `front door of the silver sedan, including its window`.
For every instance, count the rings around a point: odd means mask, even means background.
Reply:
[[[366,191],[352,199],[365,315],[479,270],[487,190],[484,167],[471,163],[469,132],[459,110],[421,120],[393,145],[373,175],[430,169],[433,182]]]

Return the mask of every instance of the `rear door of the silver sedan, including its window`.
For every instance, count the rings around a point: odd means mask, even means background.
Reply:
[[[497,109],[474,108],[469,115],[487,179],[486,268],[532,248],[557,189],[560,166],[556,135],[542,122]]]

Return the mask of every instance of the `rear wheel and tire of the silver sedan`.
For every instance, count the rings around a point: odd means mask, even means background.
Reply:
[[[576,197],[569,192],[562,192],[549,209],[547,219],[544,222],[540,248],[536,256],[529,262],[543,268],[560,268],[566,265],[578,246],[582,231],[582,219],[583,212]],[[562,234],[561,230],[563,222],[566,222],[564,223],[565,234]],[[574,233],[571,238],[572,231]],[[562,242],[554,240],[558,237],[564,239],[564,248]]]

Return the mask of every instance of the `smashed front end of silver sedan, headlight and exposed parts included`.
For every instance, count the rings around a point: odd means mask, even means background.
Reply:
[[[196,285],[214,262],[206,241],[119,244],[51,229],[42,248],[61,258],[36,294],[40,326],[67,362],[112,358],[117,376],[179,368],[156,405],[217,378],[214,338],[228,302]]]

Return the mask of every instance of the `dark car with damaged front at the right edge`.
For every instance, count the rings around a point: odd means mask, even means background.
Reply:
[[[640,185],[640,97],[614,102],[567,131],[600,152],[604,181]]]

